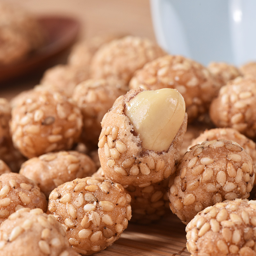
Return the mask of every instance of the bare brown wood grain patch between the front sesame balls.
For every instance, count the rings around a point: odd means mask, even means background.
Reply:
[[[154,224],[129,223],[114,244],[93,256],[190,256],[186,241],[185,225],[170,212]]]

